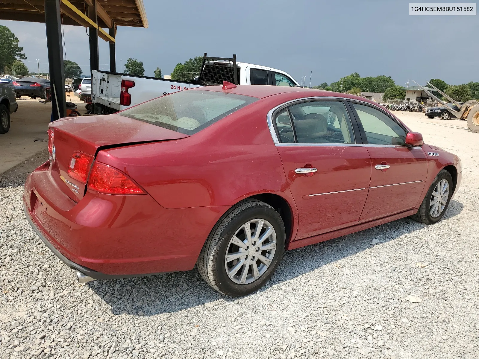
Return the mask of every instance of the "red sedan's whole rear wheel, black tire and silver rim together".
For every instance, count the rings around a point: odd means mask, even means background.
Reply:
[[[271,278],[284,250],[285,225],[279,213],[264,202],[246,200],[217,222],[196,265],[213,289],[240,297]]]

